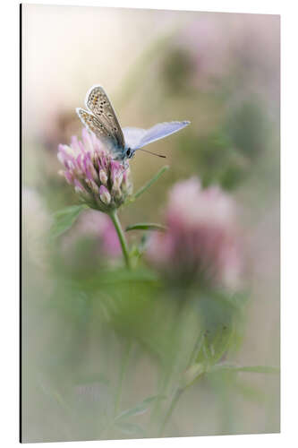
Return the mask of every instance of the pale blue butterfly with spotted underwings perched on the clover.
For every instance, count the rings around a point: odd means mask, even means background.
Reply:
[[[99,140],[108,144],[109,151],[115,159],[121,160],[127,166],[127,159],[132,159],[135,151],[147,151],[142,148],[149,143],[156,142],[167,135],[174,134],[190,124],[189,121],[171,121],[158,123],[149,129],[139,127],[123,127],[119,125],[115,110],[100,85],[92,86],[85,99],[83,108],[76,108],[76,112],[83,125],[94,133]],[[147,151],[158,157],[166,157]]]

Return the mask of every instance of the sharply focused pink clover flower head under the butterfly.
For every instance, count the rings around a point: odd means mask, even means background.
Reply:
[[[83,128],[81,141],[72,136],[71,144],[58,146],[60,173],[90,208],[106,213],[117,209],[132,194],[130,168],[112,158],[105,144]]]

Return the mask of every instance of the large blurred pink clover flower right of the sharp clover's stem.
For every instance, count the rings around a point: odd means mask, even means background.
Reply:
[[[172,188],[166,233],[149,240],[148,257],[174,280],[195,278],[236,289],[242,271],[235,206],[217,186],[201,188],[197,178]]]

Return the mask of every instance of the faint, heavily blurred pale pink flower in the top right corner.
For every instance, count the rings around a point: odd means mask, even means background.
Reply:
[[[234,75],[243,86],[237,95],[255,91],[260,98],[277,101],[278,16],[202,13],[185,27],[179,45],[192,56],[193,81],[200,87],[217,86],[218,80]]]

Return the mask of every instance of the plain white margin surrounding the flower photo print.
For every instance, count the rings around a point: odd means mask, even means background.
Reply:
[[[196,1],[196,0],[135,0],[112,2],[70,2],[36,0],[35,4],[81,4],[102,6],[147,7],[234,13],[282,14],[282,434],[281,435],[231,435],[190,437],[181,439],[149,439],[143,441],[110,441],[70,443],[80,447],[99,444],[104,447],[126,446],[220,446],[221,448],[253,444],[272,448],[294,446],[297,441],[297,14],[292,1]],[[18,195],[19,195],[19,141],[18,141],[18,2],[2,2],[0,31],[2,46],[1,70],[1,444],[5,447],[18,444]],[[296,95],[295,95],[296,94]],[[297,443],[297,442],[296,442]],[[45,446],[35,444],[35,446]],[[47,444],[56,446],[56,444]]]

